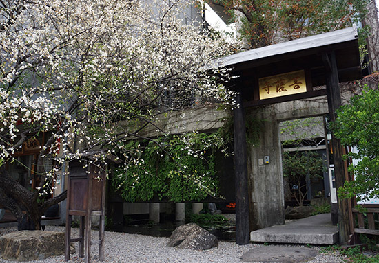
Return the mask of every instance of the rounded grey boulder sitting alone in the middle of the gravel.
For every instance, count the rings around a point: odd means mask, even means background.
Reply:
[[[180,249],[204,250],[217,246],[216,236],[194,223],[177,227],[167,242],[167,247],[178,247]]]

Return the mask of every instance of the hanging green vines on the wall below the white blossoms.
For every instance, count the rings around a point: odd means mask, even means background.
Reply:
[[[214,151],[224,149],[218,133],[187,133],[130,141],[132,155],[112,171],[112,185],[125,201],[200,201],[218,195]]]

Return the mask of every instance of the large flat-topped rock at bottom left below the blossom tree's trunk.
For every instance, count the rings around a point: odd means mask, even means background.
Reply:
[[[0,237],[0,255],[4,260],[44,260],[63,255],[65,233],[55,231],[17,231]]]

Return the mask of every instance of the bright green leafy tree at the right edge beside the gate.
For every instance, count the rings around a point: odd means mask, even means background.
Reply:
[[[357,197],[358,201],[379,197],[379,90],[365,88],[350,103],[337,112],[334,133],[347,146],[358,152],[348,156],[358,160],[349,165],[354,181],[345,182],[338,193],[343,197]]]

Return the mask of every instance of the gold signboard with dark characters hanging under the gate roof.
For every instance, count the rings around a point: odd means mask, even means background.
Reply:
[[[260,78],[258,82],[260,100],[307,92],[304,70]]]

